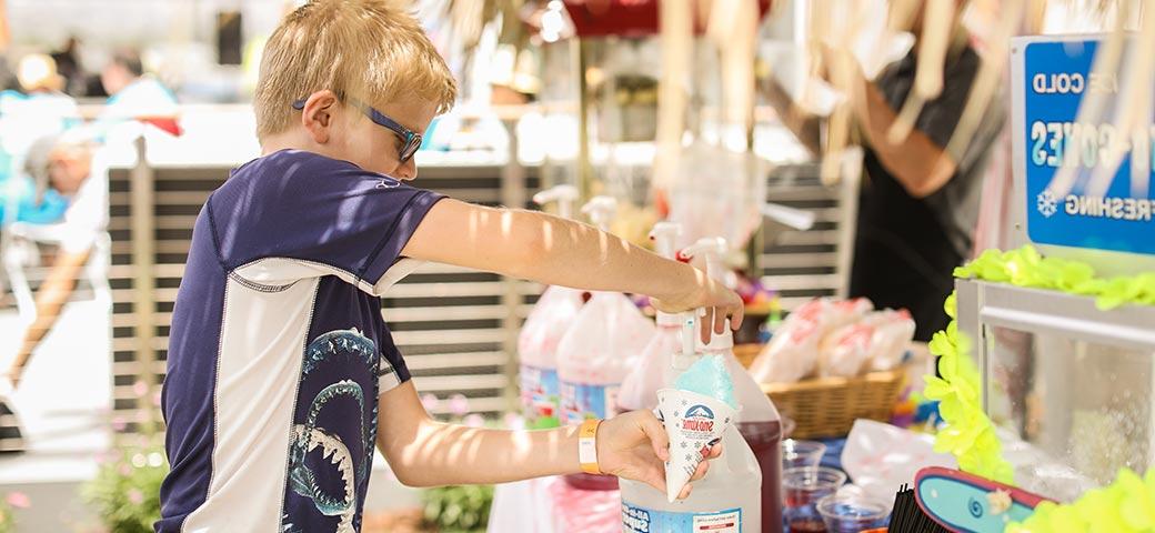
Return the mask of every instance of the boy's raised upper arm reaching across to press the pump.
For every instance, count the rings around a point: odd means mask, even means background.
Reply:
[[[726,316],[733,329],[742,325],[742,299],[702,271],[542,212],[442,200],[417,226],[402,255],[550,285],[646,294],[669,313],[703,307],[706,323],[713,321],[717,333]],[[709,331],[702,328],[703,336]]]

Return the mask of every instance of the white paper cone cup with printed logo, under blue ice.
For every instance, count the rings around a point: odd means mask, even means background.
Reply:
[[[709,455],[710,446],[721,441],[722,434],[733,423],[738,410],[698,392],[662,389],[657,391],[655,413],[670,436],[665,497],[672,503],[694,475],[698,464]]]

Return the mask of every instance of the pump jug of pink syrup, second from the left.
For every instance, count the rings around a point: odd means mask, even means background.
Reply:
[[[590,220],[609,228],[617,203],[598,196],[582,208]],[[654,337],[654,323],[625,294],[595,292],[574,317],[558,345],[558,378],[564,425],[618,413],[618,391],[638,356]],[[578,474],[566,476],[584,489],[613,489],[617,479]]]

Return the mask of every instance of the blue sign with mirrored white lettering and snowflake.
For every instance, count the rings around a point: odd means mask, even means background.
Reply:
[[[1095,40],[1068,40],[1030,43],[1023,51],[1024,87],[1015,90],[1026,91],[1024,128],[1016,135],[1026,135],[1027,234],[1036,243],[1155,254],[1155,126],[1147,117],[1131,132],[1116,132],[1111,122],[1126,75],[1093,74],[1097,48]],[[1108,97],[1105,113],[1079,122],[1079,104],[1093,93]],[[1109,185],[1096,182],[1104,160],[1124,150]],[[1052,182],[1064,167],[1073,179]]]

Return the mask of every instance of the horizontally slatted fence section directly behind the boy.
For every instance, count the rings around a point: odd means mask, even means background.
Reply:
[[[152,205],[133,213],[131,171],[110,175],[110,233],[113,287],[113,408],[125,420],[137,421],[144,406],[136,383],[151,371],[164,376],[172,303],[184,273],[193,223],[209,192],[229,175],[228,167],[161,167],[152,171]],[[511,183],[511,181],[513,181]],[[524,188],[535,190],[536,178],[523,178],[501,166],[423,167],[422,187],[464,201],[524,205]],[[502,201],[505,200],[505,201]],[[133,262],[134,216],[150,216],[152,263]],[[152,331],[137,331],[141,315],[135,288],[143,279],[152,309],[146,320]],[[516,397],[511,360],[517,328],[541,287],[487,272],[446,265],[426,265],[405,278],[383,299],[383,316],[422,392],[439,397],[463,393],[475,412],[502,412]],[[151,351],[151,352],[148,352]],[[142,368],[156,354],[151,368]],[[135,426],[129,423],[128,429]]]

